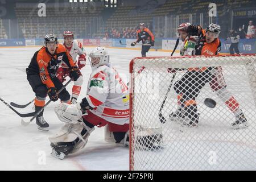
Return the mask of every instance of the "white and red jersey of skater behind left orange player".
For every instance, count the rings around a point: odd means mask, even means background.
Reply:
[[[69,53],[71,54],[75,65],[77,65],[77,60],[76,57],[77,55],[84,55],[86,57],[86,52],[84,50],[84,48],[82,47],[82,44],[78,41],[78,40],[73,40],[73,44],[71,47],[67,47],[65,45],[65,43],[63,44],[65,46],[65,48],[68,49]],[[68,68],[67,64],[65,64],[64,62],[61,62],[61,67],[63,68]]]

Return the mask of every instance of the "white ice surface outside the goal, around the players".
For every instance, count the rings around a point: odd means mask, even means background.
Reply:
[[[27,104],[34,98],[26,79],[25,69],[39,47],[0,48],[0,96],[7,103]],[[87,53],[93,48],[85,47]],[[140,50],[108,49],[110,60],[124,81],[128,81],[129,62],[141,56]],[[169,56],[169,52],[150,51],[147,56]],[[87,58],[88,59],[88,58]],[[86,95],[90,75],[89,61],[82,70],[84,84],[79,100]],[[67,86],[71,91],[72,84]],[[47,98],[48,100],[48,98]],[[129,148],[117,147],[105,142],[104,129],[96,128],[85,148],[64,160],[53,158],[49,146],[49,135],[55,134],[63,125],[57,119],[53,108],[59,101],[52,102],[44,111],[44,118],[50,125],[48,133],[37,130],[35,121],[24,127],[20,117],[9,107],[0,103],[0,170],[128,170]],[[33,111],[32,104],[20,113]],[[27,118],[29,119],[29,118]]]

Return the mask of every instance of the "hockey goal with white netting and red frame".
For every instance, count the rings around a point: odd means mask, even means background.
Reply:
[[[256,169],[256,55],[137,57],[130,73],[131,170]]]

